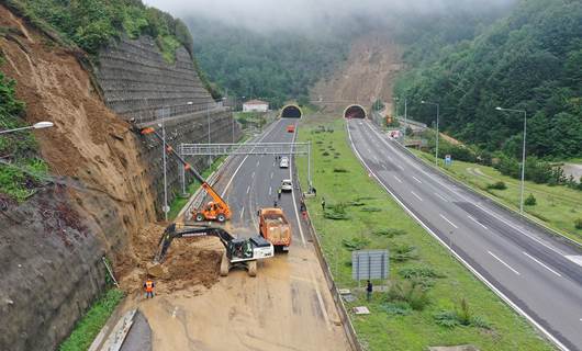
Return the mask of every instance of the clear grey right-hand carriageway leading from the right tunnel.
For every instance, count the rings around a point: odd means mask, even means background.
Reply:
[[[370,174],[474,274],[563,350],[582,350],[582,252],[415,159],[369,121],[347,122]]]

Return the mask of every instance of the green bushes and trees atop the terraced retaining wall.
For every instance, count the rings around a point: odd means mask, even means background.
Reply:
[[[192,35],[186,24],[141,0],[7,0],[5,4],[60,45],[78,46],[93,59],[100,48],[124,35],[152,36],[169,64],[176,61],[176,49],[183,46],[204,87],[213,98],[221,98],[194,58]]]

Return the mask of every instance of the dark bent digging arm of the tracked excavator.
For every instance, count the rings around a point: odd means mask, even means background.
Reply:
[[[158,241],[158,251],[154,258],[155,262],[161,263],[166,258],[166,253],[171,245],[171,241],[177,238],[194,238],[194,237],[216,237],[221,240],[224,248],[228,249],[228,242],[234,238],[233,236],[222,229],[216,227],[205,227],[205,226],[184,226],[181,224],[172,223],[159,238]]]

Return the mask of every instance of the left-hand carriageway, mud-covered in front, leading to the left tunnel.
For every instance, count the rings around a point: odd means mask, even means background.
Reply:
[[[291,141],[295,135],[287,126],[298,122],[279,120],[256,139]],[[257,210],[273,205],[281,180],[292,172],[280,169],[275,156],[231,158],[214,185],[233,211],[227,230],[257,235]],[[298,215],[299,191],[282,194],[279,205],[291,223],[293,242],[289,253],[261,261],[256,278],[234,270],[199,296],[176,292],[141,304],[152,325],[154,350],[349,350]]]

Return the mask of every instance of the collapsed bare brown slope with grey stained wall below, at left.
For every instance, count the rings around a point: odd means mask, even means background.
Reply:
[[[156,219],[141,141],[97,94],[79,53],[57,47],[0,5],[1,67],[18,81],[53,184],[0,211],[0,350],[52,350],[103,291],[115,258]]]

